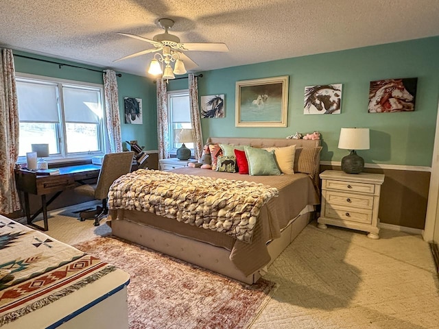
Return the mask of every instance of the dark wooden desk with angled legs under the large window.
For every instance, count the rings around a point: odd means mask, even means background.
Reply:
[[[101,166],[97,164],[81,164],[78,166],[60,167],[58,175],[37,175],[35,172],[15,169],[16,187],[23,191],[25,195],[25,212],[27,224],[38,228],[38,230],[47,231],[47,206],[51,204],[62,191],[74,188],[76,183],[85,184],[84,180],[97,178]],[[29,193],[41,195],[41,208],[30,216]],[[55,193],[53,197],[46,200],[46,195]],[[44,228],[32,223],[40,213],[43,212]]]

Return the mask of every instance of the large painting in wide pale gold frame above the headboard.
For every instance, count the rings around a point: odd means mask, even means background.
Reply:
[[[287,127],[288,75],[236,82],[236,127]]]

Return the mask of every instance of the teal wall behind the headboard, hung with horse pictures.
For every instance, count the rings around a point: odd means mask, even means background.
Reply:
[[[202,119],[209,136],[277,137],[318,130],[322,160],[340,161],[341,127],[369,127],[370,149],[358,151],[365,162],[431,166],[439,95],[439,37],[397,42],[202,72],[199,95],[225,94],[226,117]],[[235,83],[289,75],[288,125],[285,128],[235,127]],[[369,83],[418,77],[414,112],[368,113]],[[305,86],[343,84],[341,114],[303,114]],[[169,81],[168,90],[187,88],[187,80]]]

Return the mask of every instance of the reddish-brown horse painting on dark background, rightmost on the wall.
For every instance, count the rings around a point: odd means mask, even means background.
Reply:
[[[370,82],[368,112],[414,111],[417,84],[417,77]]]

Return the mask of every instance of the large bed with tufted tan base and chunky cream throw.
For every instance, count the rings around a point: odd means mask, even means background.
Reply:
[[[190,167],[170,172],[141,169],[122,176],[110,188],[108,224],[112,227],[112,234],[122,239],[252,284],[307,226],[315,206],[319,204],[320,141],[209,138],[208,142],[220,145],[222,149],[245,149],[247,157],[250,150],[259,154],[260,149],[266,149],[269,152],[263,154],[277,154],[279,150],[291,151],[290,148],[294,148],[294,174],[243,175]],[[250,158],[248,160],[250,163]],[[250,168],[261,163],[265,165],[265,161],[252,161]],[[180,178],[184,181],[178,185],[176,182]],[[244,213],[244,210],[237,210],[240,205],[244,207],[244,203],[240,202],[235,202],[235,208],[225,211],[225,215],[224,212],[219,215],[221,210],[208,213],[206,208],[215,204],[209,201],[208,196],[194,194],[195,197],[191,196],[190,200],[187,196],[189,192],[198,193],[195,191],[201,189],[200,186],[204,187],[204,181],[207,181],[206,184],[224,183],[226,187],[220,189],[234,193],[238,188],[236,185],[240,185],[242,190],[229,197],[230,200],[241,200],[248,191],[253,191],[252,196],[257,191],[256,194],[261,197],[258,201],[253,199],[252,210],[245,212],[250,214],[246,219],[242,216],[240,220],[237,218],[236,214]],[[153,185],[156,189],[150,188]],[[145,197],[145,191],[150,189],[154,189],[156,195]],[[202,191],[209,192],[206,189]],[[161,195],[157,196],[157,193]],[[169,203],[169,199],[164,199],[173,194],[176,199],[174,205]],[[182,199],[185,200],[183,206]],[[250,209],[250,205],[246,207]],[[188,215],[189,212],[193,215]],[[214,219],[216,215],[218,218]]]

